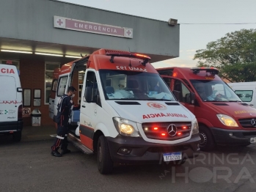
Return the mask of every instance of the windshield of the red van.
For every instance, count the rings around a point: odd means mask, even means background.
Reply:
[[[190,80],[203,101],[241,102],[238,95],[223,81]]]

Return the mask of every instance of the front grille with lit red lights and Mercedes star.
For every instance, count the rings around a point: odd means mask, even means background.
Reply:
[[[148,139],[174,141],[190,135],[191,122],[145,122],[142,129]]]

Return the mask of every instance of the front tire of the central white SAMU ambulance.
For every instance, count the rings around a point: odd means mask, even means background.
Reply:
[[[114,163],[105,136],[100,136],[98,139],[97,161],[100,174],[110,174],[112,172]]]

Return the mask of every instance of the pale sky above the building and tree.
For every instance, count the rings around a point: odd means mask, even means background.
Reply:
[[[194,54],[227,33],[256,28],[256,0],[62,0],[102,10],[180,23],[180,56],[158,67],[196,67]],[[201,24],[186,24],[201,23]],[[202,24],[206,23],[206,24]],[[211,24],[227,23],[227,24]],[[252,24],[231,24],[252,23]]]

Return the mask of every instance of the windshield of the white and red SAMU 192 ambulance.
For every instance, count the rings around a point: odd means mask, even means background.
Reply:
[[[175,101],[158,73],[99,70],[106,100]]]

